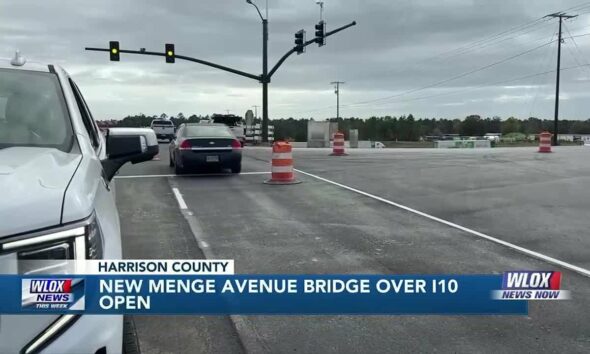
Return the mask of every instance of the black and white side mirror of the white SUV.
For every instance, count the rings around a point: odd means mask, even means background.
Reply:
[[[156,133],[149,128],[110,128],[106,142],[107,158],[102,167],[109,181],[127,162],[150,161],[159,152]]]

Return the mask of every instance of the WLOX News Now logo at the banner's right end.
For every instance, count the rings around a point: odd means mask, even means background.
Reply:
[[[502,290],[494,290],[495,300],[567,300],[570,293],[561,290],[561,272],[504,272]]]

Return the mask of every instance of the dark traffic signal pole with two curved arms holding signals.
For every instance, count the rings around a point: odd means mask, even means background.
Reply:
[[[314,38],[309,41],[306,41],[305,43],[302,44],[301,48],[307,47],[308,45],[314,44],[314,43],[318,43],[321,46],[324,43],[323,40],[325,37],[329,37],[333,34],[336,34],[340,31],[342,31],[348,27],[352,27],[354,25],[356,25],[356,21],[353,21],[353,22],[349,23],[348,25],[342,26],[342,27],[337,28],[333,31],[326,32],[322,36],[322,38]],[[117,48],[116,59],[113,59],[113,53],[114,53],[113,46],[116,46],[116,48]],[[170,44],[166,45],[167,48],[169,46],[170,46]],[[287,58],[291,54],[297,52],[297,47],[293,47],[291,50],[289,50],[287,53],[285,53],[285,55],[283,55],[281,57],[281,59],[279,59],[279,61],[273,66],[273,68],[270,71],[268,71],[268,20],[265,18],[262,19],[262,74],[261,75],[247,73],[245,71],[233,69],[233,68],[230,68],[230,67],[224,66],[224,65],[215,64],[215,63],[212,63],[212,62],[209,62],[206,60],[201,60],[201,59],[197,59],[197,58],[193,58],[193,57],[189,57],[189,56],[185,56],[185,55],[178,55],[174,51],[172,51],[172,53],[170,53],[169,50],[166,50],[166,52],[161,53],[161,52],[146,51],[143,48],[141,50],[119,49],[119,42],[115,42],[115,41],[110,42],[110,47],[111,48],[86,47],[85,50],[94,51],[94,52],[110,52],[112,61],[119,61],[118,54],[120,54],[120,53],[122,53],[122,54],[138,54],[138,55],[153,55],[153,56],[165,57],[166,62],[168,62],[168,63],[173,63],[174,59],[181,59],[181,60],[186,60],[186,61],[190,61],[193,63],[198,63],[198,64],[210,66],[210,67],[213,67],[213,68],[216,68],[219,70],[227,71],[232,74],[247,77],[249,79],[253,79],[253,80],[256,80],[256,81],[262,83],[262,141],[263,142],[268,142],[268,121],[269,121],[269,118],[268,118],[268,84],[270,84],[272,76],[278,70],[278,68],[285,62],[285,60],[287,60]],[[172,47],[173,47],[173,45],[172,45]]]

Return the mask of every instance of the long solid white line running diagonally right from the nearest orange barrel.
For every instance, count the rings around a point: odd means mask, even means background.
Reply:
[[[461,231],[465,231],[467,233],[470,233],[472,235],[475,235],[475,236],[484,238],[484,239],[486,239],[488,241],[492,241],[492,242],[497,243],[497,244],[500,244],[502,246],[506,246],[506,247],[512,248],[512,249],[514,249],[514,250],[516,250],[518,252],[524,253],[524,254],[529,255],[531,257],[534,257],[534,258],[538,258],[540,260],[543,260],[543,261],[548,262],[548,263],[551,263],[551,264],[555,264],[555,265],[561,266],[563,268],[566,268],[566,269],[569,269],[569,270],[574,271],[576,273],[579,273],[579,274],[581,274],[583,276],[590,277],[590,270],[588,270],[588,269],[584,269],[582,267],[578,267],[576,265],[573,265],[573,264],[570,264],[570,263],[561,261],[559,259],[556,259],[556,258],[553,258],[553,257],[550,257],[550,256],[546,256],[546,255],[544,255],[542,253],[535,252],[535,251],[529,250],[527,248],[517,246],[517,245],[515,245],[513,243],[500,240],[498,238],[495,238],[495,237],[486,235],[486,234],[481,233],[479,231],[472,230],[472,229],[467,228],[465,226],[461,226],[461,225],[455,224],[453,222],[450,222],[450,221],[447,221],[447,220],[444,220],[444,219],[441,219],[441,218],[437,218],[436,216],[433,216],[433,215],[430,215],[430,214],[426,214],[424,212],[421,212],[421,211],[416,210],[416,209],[412,209],[410,207],[407,207],[407,206],[402,205],[402,204],[399,204],[399,203],[392,202],[391,200],[387,200],[385,198],[381,198],[381,197],[376,196],[374,194],[363,192],[361,190],[358,190],[356,188],[349,187],[349,186],[344,185],[342,183],[334,182],[334,181],[331,181],[329,179],[326,179],[326,178],[323,178],[323,177],[320,177],[320,176],[317,176],[317,175],[314,175],[314,174],[311,174],[311,173],[308,173],[308,172],[305,172],[305,171],[301,171],[301,170],[298,170],[298,169],[295,169],[295,171],[297,171],[297,172],[299,172],[301,174],[304,174],[306,176],[313,177],[313,178],[318,179],[320,181],[333,184],[333,185],[338,186],[340,188],[347,189],[347,190],[349,190],[351,192],[358,193],[360,195],[364,195],[365,197],[369,197],[369,198],[378,200],[380,202],[383,202],[385,204],[389,204],[389,205],[392,205],[394,207],[397,207],[397,208],[400,208],[400,209],[409,211],[410,213],[414,213],[414,214],[423,216],[423,217],[425,217],[427,219],[430,219],[430,220],[439,222],[441,224],[445,224],[445,225],[450,226],[450,227],[453,227],[455,229],[459,229]]]

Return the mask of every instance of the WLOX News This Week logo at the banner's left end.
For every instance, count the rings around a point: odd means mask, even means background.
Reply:
[[[22,308],[84,310],[83,278],[22,279]]]

